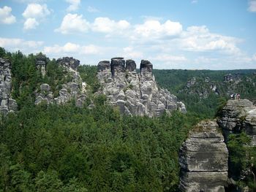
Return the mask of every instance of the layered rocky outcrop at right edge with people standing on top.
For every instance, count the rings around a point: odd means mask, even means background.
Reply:
[[[256,146],[256,106],[247,99],[229,100],[223,107],[218,120],[227,140],[229,134],[245,131]]]

